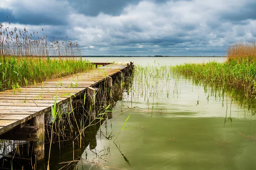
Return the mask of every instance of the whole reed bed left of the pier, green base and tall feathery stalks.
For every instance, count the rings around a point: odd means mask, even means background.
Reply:
[[[81,57],[77,42],[54,37],[48,41],[38,32],[29,34],[16,27],[9,31],[9,23],[0,23],[0,91],[94,68],[77,57]]]

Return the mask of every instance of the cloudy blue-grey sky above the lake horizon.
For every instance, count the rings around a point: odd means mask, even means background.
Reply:
[[[10,28],[69,37],[83,55],[225,54],[256,39],[256,0],[0,0]]]

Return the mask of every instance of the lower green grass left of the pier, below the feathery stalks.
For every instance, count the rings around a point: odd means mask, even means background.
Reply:
[[[0,57],[0,91],[87,71],[95,66],[73,57]]]

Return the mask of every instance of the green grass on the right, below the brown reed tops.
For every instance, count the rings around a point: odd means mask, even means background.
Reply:
[[[251,62],[230,59],[224,63],[186,63],[177,65],[172,71],[197,81],[221,83],[242,89],[245,94],[256,93],[256,60]]]

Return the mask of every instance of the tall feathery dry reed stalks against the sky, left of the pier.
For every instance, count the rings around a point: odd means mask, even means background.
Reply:
[[[10,23],[10,22],[9,22]],[[0,23],[0,56],[81,56],[77,42],[72,42],[67,37],[58,38],[40,36],[38,31],[29,33],[26,28],[9,30],[9,23]],[[44,32],[44,29],[42,28]]]

